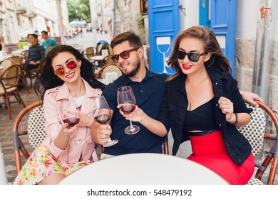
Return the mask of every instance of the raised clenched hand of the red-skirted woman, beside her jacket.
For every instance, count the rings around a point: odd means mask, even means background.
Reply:
[[[229,123],[235,123],[235,117],[233,117],[234,113],[234,104],[230,99],[226,97],[220,97],[218,100],[218,104],[222,113],[226,114],[226,121]]]

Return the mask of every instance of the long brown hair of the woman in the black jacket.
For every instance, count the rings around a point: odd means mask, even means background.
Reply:
[[[170,55],[168,60],[168,65],[170,65],[177,74],[170,77],[170,80],[177,77],[181,73],[180,65],[177,61],[177,50],[179,49],[180,41],[184,38],[197,38],[202,41],[204,45],[205,52],[212,53],[210,60],[205,62],[206,67],[214,66],[222,72],[232,72],[229,60],[222,53],[219,43],[215,38],[215,33],[213,33],[210,28],[205,26],[192,26],[191,28],[182,31],[176,38],[173,45],[173,53]]]

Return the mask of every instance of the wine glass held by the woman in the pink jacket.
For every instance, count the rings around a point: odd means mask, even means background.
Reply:
[[[61,101],[61,114],[63,123],[68,123],[67,128],[74,127],[80,121],[80,111],[73,99],[63,99]],[[82,140],[74,135],[74,144],[81,144]]]

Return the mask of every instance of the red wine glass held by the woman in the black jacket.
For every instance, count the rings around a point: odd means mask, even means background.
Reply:
[[[117,92],[118,104],[120,106],[120,110],[122,112],[130,114],[133,112],[136,106],[135,96],[133,94],[133,90],[129,86],[123,86],[118,88]],[[130,126],[125,128],[125,134],[137,134],[140,128],[136,125],[133,125],[131,119],[129,120]]]

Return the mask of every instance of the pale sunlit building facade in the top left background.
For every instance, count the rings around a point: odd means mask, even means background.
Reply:
[[[68,26],[66,0],[0,0],[0,33],[6,43],[24,41],[29,33],[48,31],[50,36],[61,36],[57,2],[61,2],[63,26]]]

